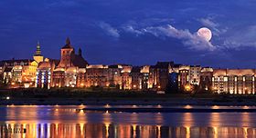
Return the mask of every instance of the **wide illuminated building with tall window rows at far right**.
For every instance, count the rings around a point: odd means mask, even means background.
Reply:
[[[255,70],[214,69],[212,89],[218,94],[255,94]]]

